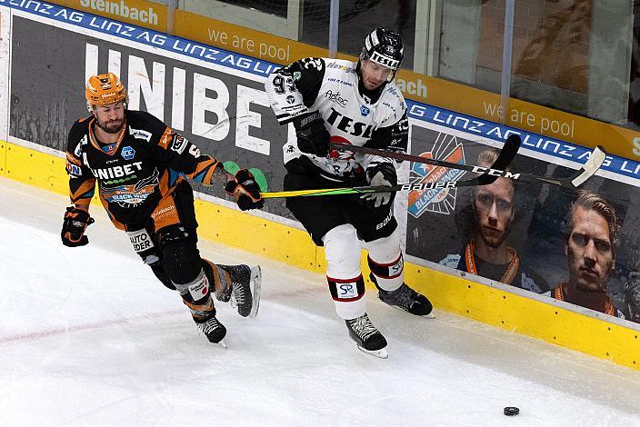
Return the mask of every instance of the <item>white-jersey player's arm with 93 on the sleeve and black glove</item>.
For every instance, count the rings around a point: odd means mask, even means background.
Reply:
[[[330,134],[315,103],[325,78],[325,60],[303,58],[270,74],[265,83],[269,103],[280,124],[292,122],[298,148],[305,154],[324,157],[329,153]]]

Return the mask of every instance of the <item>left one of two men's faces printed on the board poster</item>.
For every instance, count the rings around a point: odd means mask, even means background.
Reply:
[[[498,178],[494,184],[477,187],[474,204],[480,238],[489,247],[500,247],[514,219],[514,184]]]

